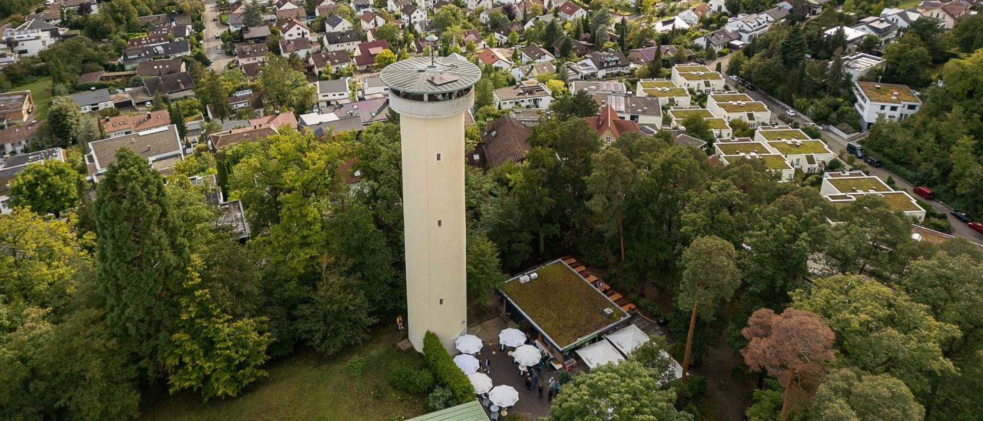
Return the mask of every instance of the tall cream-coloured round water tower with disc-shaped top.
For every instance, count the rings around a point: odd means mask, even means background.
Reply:
[[[482,72],[464,60],[415,57],[386,66],[380,77],[402,139],[410,342],[423,351],[424,334],[433,331],[452,350],[467,328],[464,115]]]

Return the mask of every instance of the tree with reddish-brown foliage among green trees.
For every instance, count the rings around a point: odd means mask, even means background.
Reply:
[[[750,342],[740,353],[752,371],[765,370],[779,379],[784,388],[781,421],[785,421],[790,393],[812,390],[826,363],[836,360],[835,335],[815,313],[791,308],[781,315],[759,309],[747,325],[741,333]]]

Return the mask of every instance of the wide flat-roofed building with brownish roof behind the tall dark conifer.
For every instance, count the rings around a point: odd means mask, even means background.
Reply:
[[[184,143],[178,136],[177,126],[173,124],[90,142],[90,151],[86,155],[89,181],[98,182],[109,165],[116,163],[116,150],[120,148],[137,152],[153,169],[163,173],[169,173],[175,164],[184,159]]]

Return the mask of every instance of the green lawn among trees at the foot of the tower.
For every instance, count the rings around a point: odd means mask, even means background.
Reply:
[[[412,348],[396,349],[400,340],[387,326],[363,345],[330,358],[311,350],[271,364],[269,376],[233,399],[207,404],[195,393],[145,396],[143,420],[400,420],[427,412],[426,399],[389,387],[392,367],[423,364]],[[365,374],[353,377],[345,364],[363,355]],[[380,396],[376,397],[376,391]],[[160,398],[155,398],[160,397]]]

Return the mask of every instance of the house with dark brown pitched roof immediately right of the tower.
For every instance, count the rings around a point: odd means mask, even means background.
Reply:
[[[522,162],[529,152],[533,130],[510,116],[486,122],[481,141],[468,153],[468,165],[495,168],[509,160]]]

